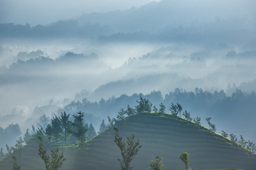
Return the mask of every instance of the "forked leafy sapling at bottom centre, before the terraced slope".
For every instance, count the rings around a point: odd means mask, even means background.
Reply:
[[[120,163],[122,170],[131,170],[133,167],[131,166],[131,161],[133,160],[134,156],[139,153],[139,148],[142,147],[140,145],[139,139],[135,142],[134,135],[131,137],[126,137],[126,143],[123,141],[123,137],[119,136],[119,130],[117,127],[114,127],[114,142],[117,144],[119,149],[121,150],[121,154],[123,160],[117,159]]]

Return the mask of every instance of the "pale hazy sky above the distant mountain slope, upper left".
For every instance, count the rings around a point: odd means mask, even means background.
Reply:
[[[151,1],[153,0],[0,0],[0,23],[47,24],[82,13],[140,7]]]

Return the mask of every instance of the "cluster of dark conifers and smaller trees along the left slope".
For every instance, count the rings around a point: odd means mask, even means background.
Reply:
[[[38,129],[32,125],[32,130],[29,132],[27,128],[23,138],[20,136],[16,141],[15,146],[6,144],[6,151],[1,147],[0,160],[4,159],[14,151],[22,149],[24,144],[27,144],[30,139],[38,136],[44,136],[48,140],[48,144],[55,144],[56,146],[75,144],[77,148],[84,150],[85,143],[94,138],[97,133],[95,132],[92,123],[90,123],[90,125],[85,123],[83,118],[84,113],[81,111],[72,115],[72,117],[73,119],[71,119],[70,114],[66,114],[66,112],[61,113],[59,117],[55,115],[52,119],[43,115],[40,117],[40,123],[42,123],[42,125],[39,125]],[[9,127],[13,127],[13,125],[10,125]],[[19,125],[17,124],[14,127],[17,128]],[[100,130],[104,131],[105,129],[106,125],[103,120]],[[11,135],[11,133],[9,135]]]

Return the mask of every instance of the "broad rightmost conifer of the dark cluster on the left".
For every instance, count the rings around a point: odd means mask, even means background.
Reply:
[[[75,130],[70,130],[69,133],[72,136],[75,136],[78,143],[78,148],[81,149],[82,151],[85,150],[85,142],[87,140],[87,136],[86,136],[86,131],[88,130],[85,126],[84,126],[84,113],[82,113],[81,111],[79,111],[77,113],[78,115],[72,115],[75,120],[74,122],[71,123],[71,125],[73,127],[75,127]]]

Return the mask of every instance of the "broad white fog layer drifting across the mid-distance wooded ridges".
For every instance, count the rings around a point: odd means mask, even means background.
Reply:
[[[84,97],[98,101],[124,93],[169,93],[177,87],[187,91],[195,87],[226,91],[228,84],[256,79],[256,52],[239,51],[226,44],[177,43],[161,47],[164,45],[73,42],[4,43],[2,59],[19,61],[10,66],[6,62],[6,67],[1,67],[2,116],[10,114],[14,107],[30,115],[35,106],[47,105],[51,98],[72,101],[83,89],[89,92]],[[34,59],[27,60],[29,56]],[[246,90],[256,89],[252,85]],[[59,107],[63,105],[59,103]]]

